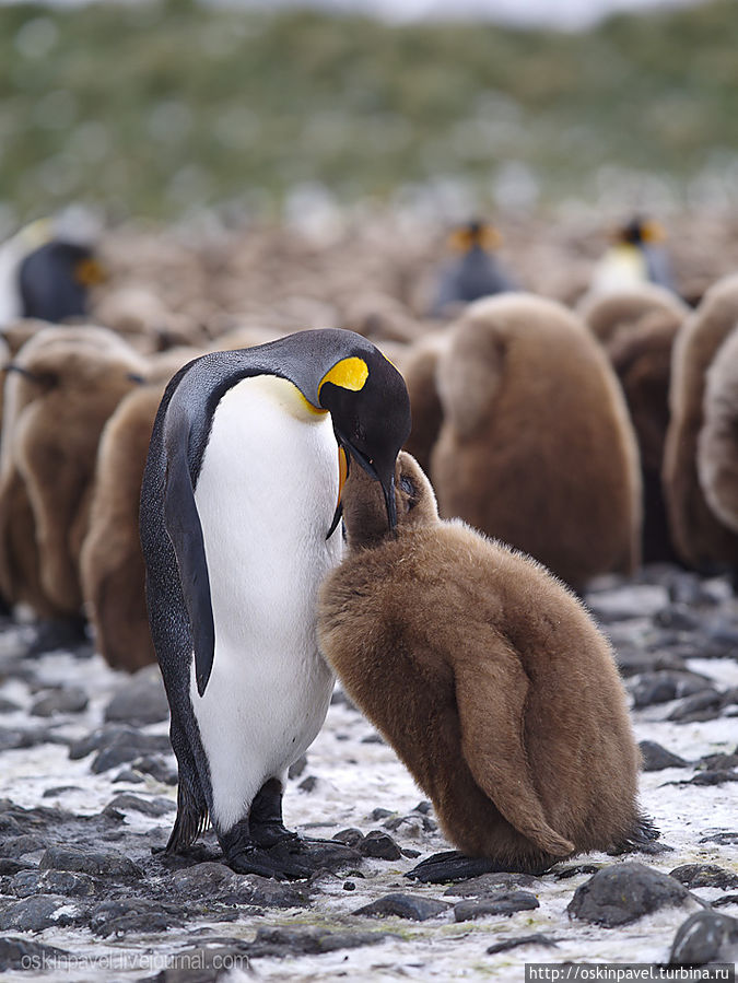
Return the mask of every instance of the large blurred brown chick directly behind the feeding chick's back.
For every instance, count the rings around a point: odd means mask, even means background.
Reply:
[[[470,305],[438,360],[431,456],[442,516],[524,550],[573,587],[640,560],[641,472],[601,347],[554,301]]]

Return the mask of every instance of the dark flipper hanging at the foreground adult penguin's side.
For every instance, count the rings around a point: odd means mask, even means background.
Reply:
[[[197,691],[202,695],[213,667],[215,625],[202,526],[195,504],[188,461],[189,436],[187,412],[173,400],[164,435],[164,527],[177,559],[179,583],[192,634]]]

